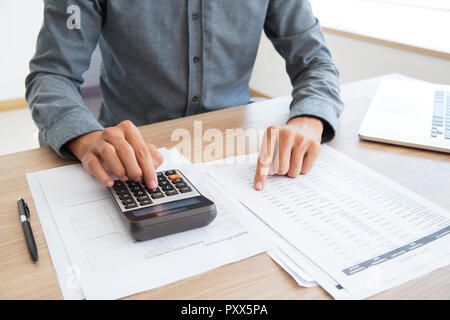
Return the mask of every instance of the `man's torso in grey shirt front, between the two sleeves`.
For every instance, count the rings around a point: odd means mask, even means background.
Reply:
[[[105,1],[100,122],[142,125],[248,103],[268,4]]]

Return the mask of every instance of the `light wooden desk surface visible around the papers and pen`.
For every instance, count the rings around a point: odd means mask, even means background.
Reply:
[[[450,209],[450,156],[448,154],[360,141],[357,135],[379,78],[343,86],[346,110],[331,146],[374,170]],[[265,128],[287,119],[285,110],[250,105],[157,123],[141,128],[146,140],[171,147],[172,130],[191,130],[195,120],[203,128]],[[61,293],[25,173],[71,162],[50,148],[0,157],[0,299],[60,299]],[[70,183],[70,182],[68,182]],[[39,248],[39,264],[31,262],[19,224],[16,199],[24,197],[32,212],[32,227]],[[330,299],[320,287],[305,289],[267,254],[245,259],[131,299]],[[450,299],[450,267],[381,293],[381,299]]]

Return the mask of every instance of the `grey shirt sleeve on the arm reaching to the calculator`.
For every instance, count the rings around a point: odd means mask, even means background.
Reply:
[[[79,91],[100,35],[101,12],[95,0],[46,0],[44,23],[25,80],[26,99],[43,139],[68,159],[75,157],[64,148],[66,142],[103,130]]]

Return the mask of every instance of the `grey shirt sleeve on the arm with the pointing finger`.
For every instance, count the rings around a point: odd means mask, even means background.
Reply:
[[[292,82],[289,119],[320,119],[324,124],[322,142],[330,141],[344,104],[339,96],[339,72],[309,1],[271,0],[264,31],[286,61]]]

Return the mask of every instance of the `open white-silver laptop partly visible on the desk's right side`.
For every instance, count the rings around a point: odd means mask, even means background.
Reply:
[[[359,136],[364,140],[450,153],[450,86],[382,80]]]

